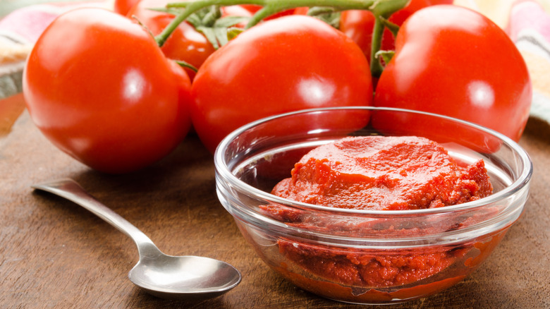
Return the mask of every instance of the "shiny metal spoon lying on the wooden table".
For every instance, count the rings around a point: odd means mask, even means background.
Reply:
[[[240,283],[240,272],[226,262],[208,257],[176,257],[161,253],[142,231],[102,205],[71,179],[39,183],[32,188],[71,200],[130,236],[138,246],[140,261],[130,270],[128,278],[154,296],[201,301],[220,296]]]

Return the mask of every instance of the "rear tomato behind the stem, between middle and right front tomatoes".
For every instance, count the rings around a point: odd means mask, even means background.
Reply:
[[[403,22],[420,10],[427,6],[433,6],[436,4],[452,4],[453,0],[411,0],[408,6],[393,13],[389,18],[391,23],[396,25],[402,25]],[[362,51],[370,59],[371,43],[372,43],[372,30],[374,28],[374,15],[370,11],[366,10],[348,10],[343,11],[340,17],[340,30],[348,37],[351,37]],[[395,49],[393,35],[389,30],[384,30],[384,37],[382,38],[382,50]]]

